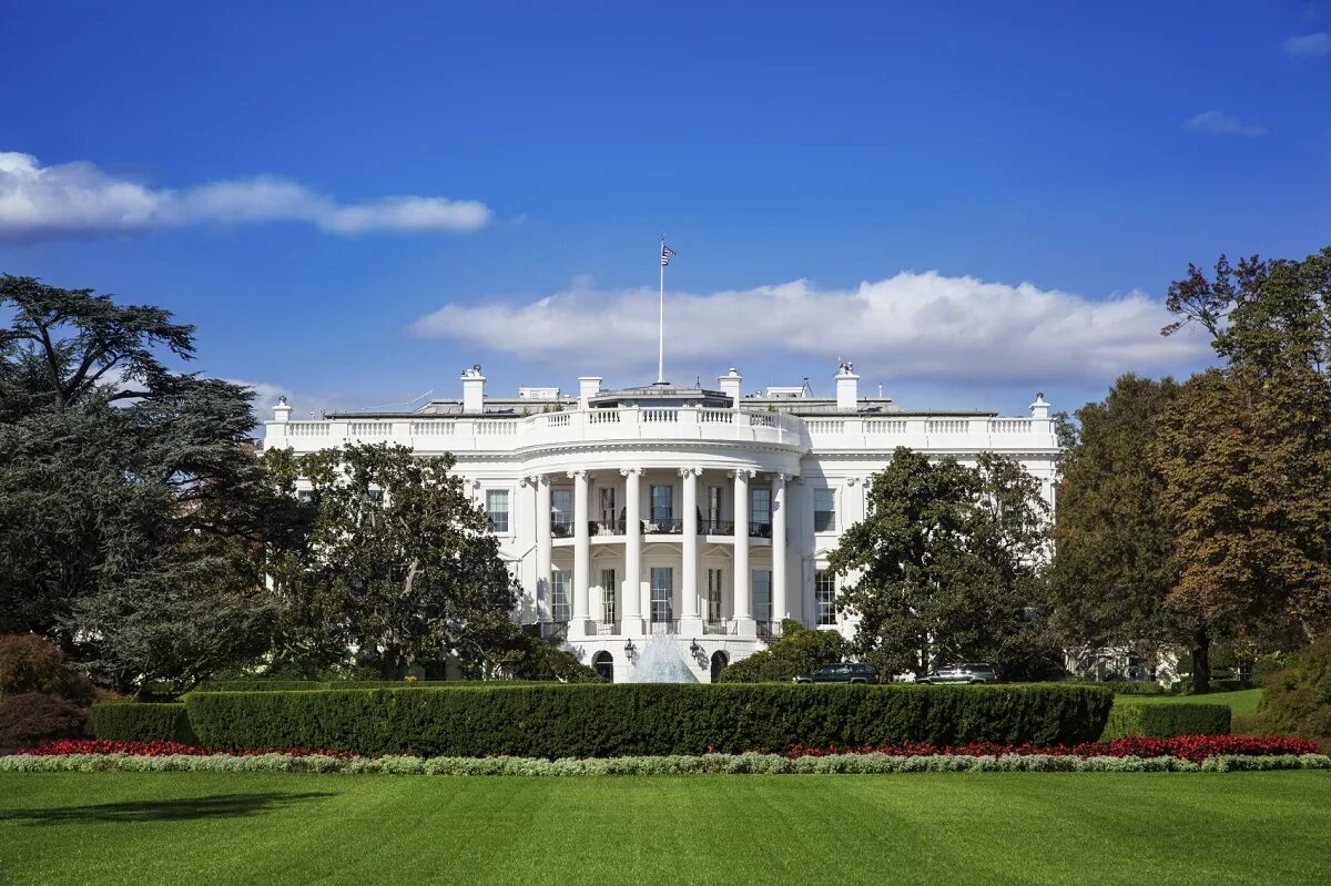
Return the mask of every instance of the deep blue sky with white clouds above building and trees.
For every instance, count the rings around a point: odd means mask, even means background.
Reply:
[[[0,270],[303,414],[651,380],[664,231],[672,380],[1014,412],[1331,243],[1328,4],[628,5],[7,4]]]

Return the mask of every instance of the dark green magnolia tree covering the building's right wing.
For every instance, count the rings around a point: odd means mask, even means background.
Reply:
[[[1008,673],[1047,666],[1034,607],[1044,599],[1047,507],[1021,464],[993,454],[965,467],[898,448],[873,478],[868,516],[829,565],[852,583],[851,651],[881,673],[924,676],[942,660],[986,659]]]

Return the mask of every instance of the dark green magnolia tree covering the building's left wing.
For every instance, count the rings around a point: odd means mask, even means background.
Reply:
[[[317,665],[355,647],[386,676],[446,655],[492,676],[530,655],[510,615],[516,584],[451,455],[355,444],[270,451],[268,464],[284,492],[298,476],[313,487],[299,544],[270,557],[278,661]]]

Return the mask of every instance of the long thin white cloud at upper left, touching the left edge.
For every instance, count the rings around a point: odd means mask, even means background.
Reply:
[[[104,173],[89,162],[43,166],[32,154],[0,152],[0,237],[53,237],[176,227],[298,221],[334,234],[466,233],[492,220],[488,206],[445,197],[383,197],[339,204],[274,176],[174,189]]]

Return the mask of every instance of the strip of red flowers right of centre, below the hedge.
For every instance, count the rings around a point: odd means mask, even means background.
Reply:
[[[1315,753],[1318,753],[1318,744],[1315,741],[1290,738],[1288,736],[1179,736],[1178,738],[1130,736],[1115,738],[1114,741],[1087,741],[1079,745],[1054,745],[1049,748],[1000,745],[993,742],[954,746],[906,742],[904,745],[862,745],[857,748],[805,748],[796,745],[785,756],[793,760],[796,757],[827,757],[829,754],[889,754],[893,757],[1051,754],[1054,757],[1178,757],[1181,760],[1202,762],[1207,757],[1223,754],[1270,757],[1275,754]]]

